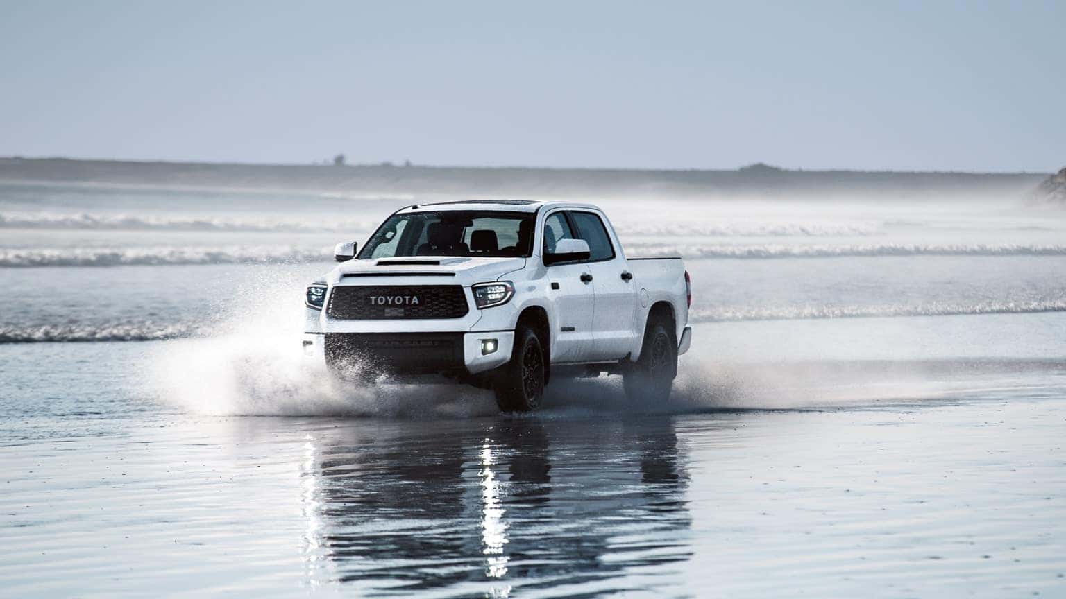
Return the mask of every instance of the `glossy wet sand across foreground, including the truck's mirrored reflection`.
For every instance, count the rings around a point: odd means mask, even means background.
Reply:
[[[0,594],[1066,595],[1054,360],[926,362],[909,393],[916,365],[789,367],[859,372],[831,405],[642,410],[603,379],[524,418],[437,388],[406,401],[467,410],[235,417],[139,394],[150,345],[0,347]]]

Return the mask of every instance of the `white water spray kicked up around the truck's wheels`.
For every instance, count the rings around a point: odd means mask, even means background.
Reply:
[[[356,384],[332,376],[324,365],[303,354],[303,278],[304,273],[295,270],[278,271],[236,290],[226,305],[239,306],[239,311],[223,319],[211,334],[161,343],[149,360],[159,396],[209,415],[471,418],[497,414],[490,392],[468,386],[395,385],[381,379]],[[772,325],[761,327],[764,335],[774,330]],[[931,391],[921,373],[906,366],[889,371],[869,366],[847,369],[839,361],[771,362],[758,355],[723,354],[726,340],[721,335],[720,329],[706,330],[705,337],[720,338],[709,349],[694,347],[681,358],[666,405],[627,400],[617,376],[555,379],[536,417],[821,408]]]

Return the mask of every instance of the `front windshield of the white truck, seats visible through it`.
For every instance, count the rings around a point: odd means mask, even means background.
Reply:
[[[408,256],[529,257],[530,212],[457,211],[393,214],[370,236],[359,258]]]

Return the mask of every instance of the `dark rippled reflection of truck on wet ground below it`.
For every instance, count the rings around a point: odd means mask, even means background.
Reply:
[[[304,448],[306,549],[358,595],[625,589],[642,568],[692,555],[688,456],[667,415],[592,430],[538,419],[334,424]]]

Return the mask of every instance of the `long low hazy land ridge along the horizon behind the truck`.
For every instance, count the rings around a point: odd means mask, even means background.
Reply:
[[[1062,175],[1062,173],[1060,173]],[[226,164],[0,158],[0,182],[482,196],[1018,196],[1047,173]]]

